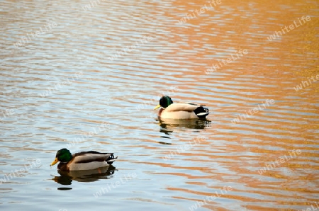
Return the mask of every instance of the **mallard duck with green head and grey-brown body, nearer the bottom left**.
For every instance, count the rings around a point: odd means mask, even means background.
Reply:
[[[98,169],[113,164],[118,157],[113,153],[101,153],[96,151],[78,152],[71,154],[68,149],[60,149],[55,155],[55,161],[50,166],[57,164],[57,169],[61,171],[79,171]]]

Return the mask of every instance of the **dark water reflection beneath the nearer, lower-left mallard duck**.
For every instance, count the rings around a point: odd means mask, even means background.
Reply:
[[[60,183],[61,185],[69,186],[72,181],[78,181],[82,183],[90,183],[99,181],[102,179],[108,179],[108,176],[112,175],[116,171],[116,168],[112,165],[101,167],[99,169],[82,170],[82,171],[61,171],[60,176],[55,176],[52,181]],[[71,189],[71,188],[70,188]]]

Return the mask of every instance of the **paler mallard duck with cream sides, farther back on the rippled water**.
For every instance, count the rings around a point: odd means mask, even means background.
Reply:
[[[162,96],[159,99],[159,105],[154,110],[162,107],[159,110],[159,118],[166,119],[196,119],[206,118],[210,112],[208,108],[203,108],[204,105],[196,103],[173,103],[169,96]]]

